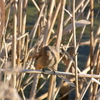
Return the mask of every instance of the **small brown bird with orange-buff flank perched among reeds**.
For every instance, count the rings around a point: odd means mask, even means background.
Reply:
[[[59,54],[53,46],[45,46],[36,58],[36,69],[51,68],[58,63]]]

